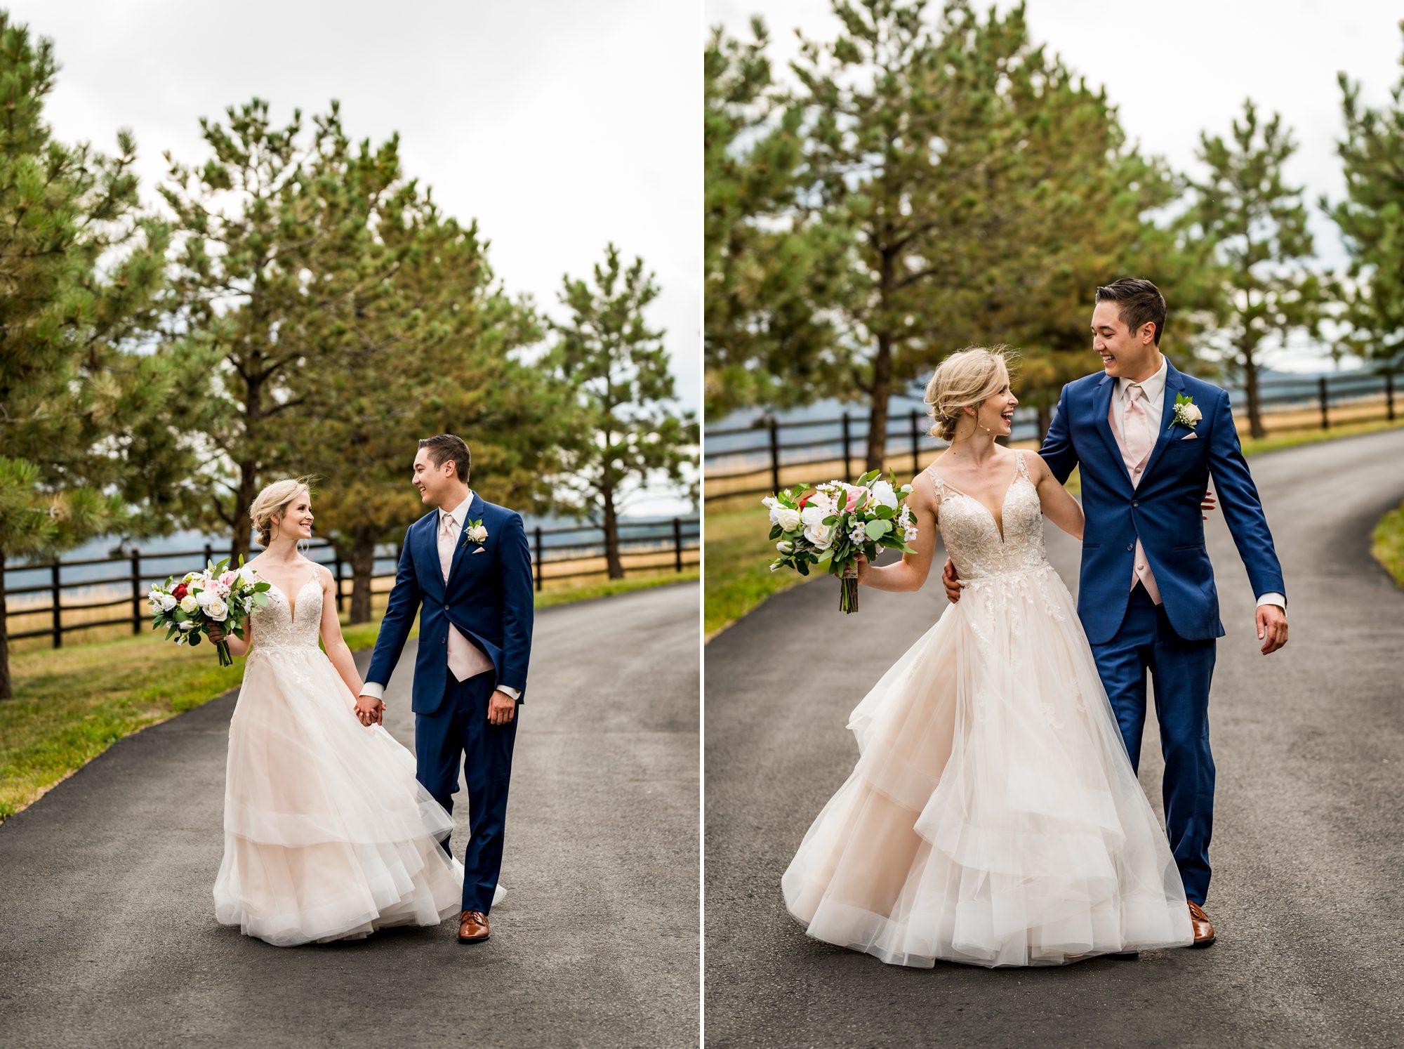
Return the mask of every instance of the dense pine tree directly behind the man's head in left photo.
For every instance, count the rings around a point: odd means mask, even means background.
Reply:
[[[317,531],[351,566],[351,622],[371,618],[376,543],[424,513],[409,483],[417,438],[459,434],[475,490],[542,510],[571,418],[567,390],[518,358],[541,327],[496,284],[476,225],[461,227],[425,197],[382,215],[376,237],[399,260],[395,275],[320,316],[319,338],[341,367],[306,390],[314,410],[289,417],[323,480]]]

